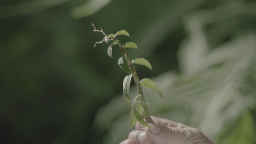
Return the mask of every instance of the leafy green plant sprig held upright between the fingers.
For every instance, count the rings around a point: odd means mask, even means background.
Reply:
[[[118,45],[119,49],[121,49],[123,53],[123,56],[118,59],[118,64],[122,68],[122,70],[124,70],[129,74],[124,78],[124,82],[123,82],[123,92],[124,92],[125,99],[131,103],[129,126],[131,127],[134,126],[136,121],[138,120],[138,122],[140,122],[142,125],[152,128],[152,126],[147,124],[147,123],[150,123],[150,117],[149,117],[150,115],[149,115],[148,103],[144,98],[142,87],[155,91],[157,94],[161,96],[161,98],[163,98],[163,95],[158,85],[156,85],[156,83],[154,83],[152,80],[150,79],[140,80],[134,66],[134,64],[139,64],[152,70],[151,64],[144,58],[135,58],[132,60],[129,58],[125,49],[126,48],[138,49],[137,45],[133,42],[126,42],[124,45],[122,45],[119,39],[117,38],[120,35],[129,37],[130,34],[127,31],[121,30],[121,31],[118,31],[116,34],[106,35],[102,30],[102,28],[100,28],[101,30],[97,30],[94,24],[92,24],[92,26],[94,27],[93,31],[101,32],[104,35],[103,40],[101,40],[100,42],[96,42],[94,47],[98,43],[106,42],[107,44],[109,44],[110,42],[112,42],[107,48],[107,54],[109,55],[109,57],[113,58],[112,48],[114,45]],[[135,98],[131,101],[129,90],[130,90],[130,83],[131,83],[132,77],[137,86],[138,95],[135,96]]]

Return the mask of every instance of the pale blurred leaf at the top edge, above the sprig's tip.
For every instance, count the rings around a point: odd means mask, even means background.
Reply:
[[[89,3],[76,7],[71,11],[71,15],[74,18],[82,18],[85,16],[93,15],[98,12],[101,8],[106,6],[112,0],[90,0]]]

